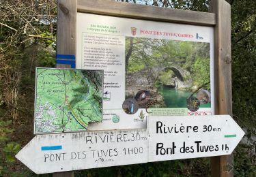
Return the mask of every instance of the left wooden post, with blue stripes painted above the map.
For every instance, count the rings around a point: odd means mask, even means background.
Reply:
[[[76,4],[76,0],[57,1],[57,54],[67,56],[76,55]],[[70,68],[71,65],[57,64],[56,67]],[[59,172],[53,174],[53,177],[73,176],[74,172]]]

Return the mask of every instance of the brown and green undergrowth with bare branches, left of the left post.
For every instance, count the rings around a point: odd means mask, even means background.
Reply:
[[[31,176],[14,155],[33,137],[35,67],[55,67],[56,1],[0,9],[0,176]]]

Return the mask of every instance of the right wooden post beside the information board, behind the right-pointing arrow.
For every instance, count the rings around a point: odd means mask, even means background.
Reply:
[[[231,13],[225,0],[212,0],[210,12],[216,14],[214,27],[215,114],[232,116],[231,91]],[[212,176],[233,176],[233,155],[211,158]]]

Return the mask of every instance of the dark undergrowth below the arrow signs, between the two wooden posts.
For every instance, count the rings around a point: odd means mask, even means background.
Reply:
[[[75,176],[208,176],[208,158],[161,161],[119,167],[104,167],[75,172]]]

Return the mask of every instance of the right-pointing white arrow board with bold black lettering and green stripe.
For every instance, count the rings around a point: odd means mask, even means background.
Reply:
[[[150,116],[149,161],[230,155],[244,131],[229,115]]]

